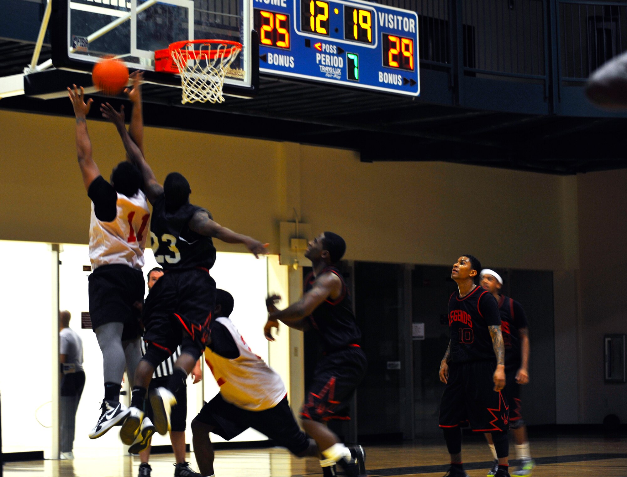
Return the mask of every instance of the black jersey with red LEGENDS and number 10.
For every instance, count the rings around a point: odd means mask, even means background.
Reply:
[[[448,300],[452,361],[495,361],[488,326],[500,324],[497,300],[490,292],[475,287],[463,298],[458,292],[453,293]]]

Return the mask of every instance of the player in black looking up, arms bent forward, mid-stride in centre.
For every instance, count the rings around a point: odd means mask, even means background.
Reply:
[[[335,476],[336,463],[349,477],[366,474],[361,446],[347,448],[326,424],[330,419],[348,419],[349,398],[366,374],[366,355],[359,347],[361,331],[344,279],[334,266],[345,250],[342,237],[321,233],[309,242],[305,252],[314,270],[305,280],[303,297],[285,310],[275,307],[280,300],[277,295],[266,300],[270,314],[265,326],[268,340],[274,341],[271,329],[278,329],[278,321],[282,321],[301,331],[314,329],[324,345],[324,357],[316,366],[300,417],[303,429],[320,449],[325,477]]]

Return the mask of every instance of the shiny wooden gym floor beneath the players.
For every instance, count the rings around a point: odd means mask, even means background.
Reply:
[[[512,446],[513,447],[513,446]],[[627,438],[539,438],[531,441],[538,464],[534,476],[627,477]],[[466,472],[483,477],[490,464],[485,444],[464,445]],[[511,449],[512,456],[514,455]],[[444,443],[366,446],[370,476],[441,477],[446,471]],[[194,454],[188,454],[196,468]],[[152,476],[174,475],[172,454],[152,456]],[[31,461],[4,464],[5,477],[135,477],[139,459],[76,456],[74,461]],[[216,477],[300,477],[322,475],[316,459],[297,459],[284,449],[216,451]]]

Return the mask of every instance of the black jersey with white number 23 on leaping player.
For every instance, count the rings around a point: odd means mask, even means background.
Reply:
[[[163,194],[154,203],[150,242],[155,260],[164,270],[209,270],[216,262],[216,248],[211,237],[199,235],[189,228],[189,221],[199,210],[206,209],[186,203],[174,212],[167,212]]]

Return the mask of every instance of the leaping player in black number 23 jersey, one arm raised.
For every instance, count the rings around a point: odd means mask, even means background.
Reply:
[[[212,237],[244,244],[255,257],[266,253],[267,244],[222,227],[208,210],[189,203],[191,189],[181,174],[170,173],[160,185],[124,126],[124,106],[118,112],[106,103],[100,110],[117,126],[130,160],[142,172],[144,190],[152,204],[152,250],[164,269],[164,276],[152,287],[144,304],[142,320],[148,346],[135,371],[129,417],[120,430],[122,442],[130,445],[144,418],[145,394],[155,367],[181,345],[181,356],[174,364],[167,389],[150,391],[155,428],[166,434],[171,407],[176,405],[174,392],[184,386],[204,352],[216,299],[216,282],[209,275],[216,260]]]

